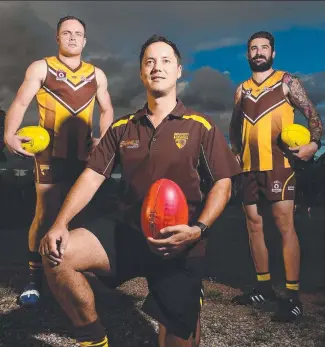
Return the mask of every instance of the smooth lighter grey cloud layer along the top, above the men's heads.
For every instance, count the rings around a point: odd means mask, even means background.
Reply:
[[[257,30],[282,30],[297,23],[320,26],[325,10],[321,1],[29,3],[35,14],[53,28],[62,16],[80,16],[87,23],[90,45],[96,43],[125,54],[137,54],[144,40],[154,33],[170,37],[182,51],[188,51],[204,42],[220,44],[224,37],[247,40]]]

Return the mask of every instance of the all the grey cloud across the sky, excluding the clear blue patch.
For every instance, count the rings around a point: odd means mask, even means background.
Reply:
[[[318,1],[0,2],[0,105],[8,108],[32,61],[56,54],[56,24],[68,14],[85,20],[84,59],[106,73],[115,114],[122,116],[145,101],[138,55],[150,35],[158,33],[175,41],[187,62],[195,49],[241,44],[257,30],[320,26],[324,11],[325,3]],[[304,83],[311,99],[324,101],[324,75],[308,78]],[[211,114],[226,129],[234,89],[229,74],[205,67],[194,73],[185,70],[178,93],[189,106]],[[37,119],[34,102],[25,122]]]

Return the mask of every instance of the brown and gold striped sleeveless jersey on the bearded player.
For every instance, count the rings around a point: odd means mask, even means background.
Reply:
[[[283,92],[284,74],[273,71],[262,83],[250,78],[242,84],[243,171],[290,167],[277,142],[282,128],[294,121],[294,108]]]

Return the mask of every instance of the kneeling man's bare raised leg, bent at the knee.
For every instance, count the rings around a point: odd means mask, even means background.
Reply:
[[[44,257],[43,264],[49,287],[73,325],[94,322],[98,317],[94,293],[82,271],[110,271],[107,254],[98,239],[86,229],[73,230],[62,263],[53,267]]]

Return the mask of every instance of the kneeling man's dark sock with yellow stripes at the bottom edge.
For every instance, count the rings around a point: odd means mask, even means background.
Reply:
[[[75,336],[81,347],[109,347],[105,329],[99,318],[85,326],[76,327]]]

